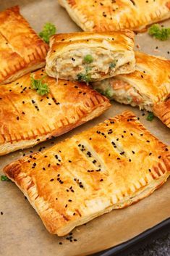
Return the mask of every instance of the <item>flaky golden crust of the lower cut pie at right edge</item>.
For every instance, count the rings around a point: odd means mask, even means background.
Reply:
[[[145,110],[153,111],[154,115],[169,127],[170,125],[170,60],[162,57],[156,57],[145,54],[140,51],[135,52],[136,66],[135,72],[129,74],[116,75],[114,78],[109,78],[109,83],[114,83],[115,80],[127,83],[127,87],[132,86],[135,91],[143,96]],[[107,83],[106,80],[103,80]],[[99,86],[99,87],[98,87]],[[94,88],[101,88],[100,84],[93,84]],[[125,84],[126,87],[126,84]],[[111,97],[119,102],[116,94]],[[124,91],[124,97],[127,96],[127,91]],[[121,102],[124,103],[124,102]],[[140,108],[140,102],[135,102]],[[127,102],[132,104],[134,102]]]

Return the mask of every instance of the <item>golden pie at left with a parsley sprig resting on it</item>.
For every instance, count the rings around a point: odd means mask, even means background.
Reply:
[[[42,78],[43,70],[33,73]],[[46,76],[48,95],[30,87],[30,74],[0,86],[0,155],[45,141],[101,115],[109,99],[83,83]]]

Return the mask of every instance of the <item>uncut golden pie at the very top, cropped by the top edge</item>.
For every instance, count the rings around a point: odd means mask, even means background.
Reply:
[[[59,0],[85,31],[143,30],[170,17],[169,0]]]

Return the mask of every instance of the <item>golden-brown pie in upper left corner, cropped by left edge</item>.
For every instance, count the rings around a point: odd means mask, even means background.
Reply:
[[[20,15],[19,7],[0,12],[0,84],[45,65],[48,45]]]

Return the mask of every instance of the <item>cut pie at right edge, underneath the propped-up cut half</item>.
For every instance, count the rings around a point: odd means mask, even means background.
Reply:
[[[109,99],[153,112],[170,127],[170,61],[136,52],[135,72],[93,83]]]

